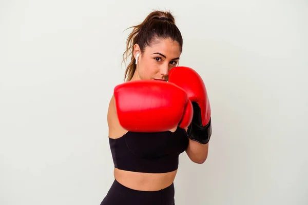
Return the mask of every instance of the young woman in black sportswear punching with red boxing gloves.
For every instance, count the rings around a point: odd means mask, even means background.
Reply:
[[[126,82],[108,110],[114,182],[101,205],[174,205],[179,155],[203,163],[210,106],[196,71],[177,67],[182,35],[169,12],[153,11],[127,38]]]

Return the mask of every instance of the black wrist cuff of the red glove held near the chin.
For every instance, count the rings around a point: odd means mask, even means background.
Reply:
[[[200,144],[207,144],[211,136],[211,118],[206,126],[202,126],[200,107],[195,103],[192,103],[192,105],[194,107],[194,117],[187,128],[187,136]]]

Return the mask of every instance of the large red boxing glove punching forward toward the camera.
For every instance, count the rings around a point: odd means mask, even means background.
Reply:
[[[114,88],[120,125],[134,132],[162,132],[186,128],[192,120],[187,93],[158,80],[128,81]]]

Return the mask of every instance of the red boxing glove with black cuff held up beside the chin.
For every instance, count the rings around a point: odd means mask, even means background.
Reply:
[[[191,68],[174,67],[169,71],[169,82],[183,88],[194,107],[194,116],[187,129],[188,137],[207,144],[211,136],[211,113],[202,78]]]

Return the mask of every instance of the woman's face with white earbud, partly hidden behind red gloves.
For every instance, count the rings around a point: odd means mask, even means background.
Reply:
[[[132,80],[168,80],[169,70],[176,67],[180,59],[180,45],[171,39],[159,39],[141,53],[134,45],[133,55],[139,53],[137,69]]]

